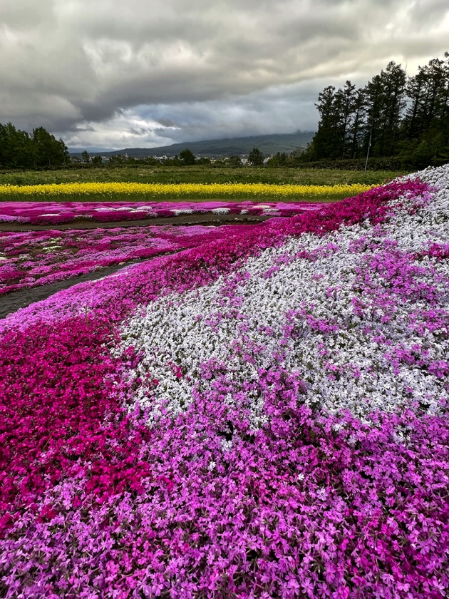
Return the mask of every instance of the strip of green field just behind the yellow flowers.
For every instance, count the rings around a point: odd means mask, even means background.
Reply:
[[[80,168],[66,170],[0,173],[0,185],[39,185],[71,182],[136,183],[291,183],[296,185],[339,185],[361,183],[381,185],[399,173],[391,170],[363,171],[297,168],[205,168],[143,167]]]

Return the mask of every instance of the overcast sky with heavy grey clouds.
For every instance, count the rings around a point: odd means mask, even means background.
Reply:
[[[448,0],[0,0],[0,123],[105,148],[314,130],[325,86],[448,40]]]

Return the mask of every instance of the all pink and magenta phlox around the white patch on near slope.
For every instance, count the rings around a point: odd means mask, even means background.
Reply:
[[[125,411],[133,388],[120,378],[138,364],[138,348],[120,359],[110,354],[118,326],[139,304],[213,282],[289,235],[386,222],[392,202],[422,198],[427,190],[419,181],[391,183],[156,258],[4,319],[0,594],[443,598],[449,588],[444,416],[404,410],[373,413],[363,423],[351,414],[313,411],[304,405],[301,373],[282,367],[280,347],[272,367],[259,369],[252,382],[235,382],[224,364],[205,362],[192,404],[175,418],[162,413],[148,429],[145,414]],[[355,288],[366,297],[356,298],[356,312],[363,317],[367,304],[378,302],[387,317],[393,298],[418,294],[420,267],[394,247],[369,260],[385,287],[371,289],[360,270]],[[416,304],[410,326],[437,329],[445,312],[432,305],[431,285],[420,292],[423,306]],[[309,318],[314,334],[334,332],[334,322],[298,314]],[[294,334],[296,316],[287,315],[285,339]],[[375,336],[381,342],[381,330]],[[391,360],[417,359],[416,347],[389,351]],[[425,359],[421,352],[418,361]],[[425,366],[446,376],[445,361]],[[249,424],[249,394],[264,397],[267,423],[258,430]]]

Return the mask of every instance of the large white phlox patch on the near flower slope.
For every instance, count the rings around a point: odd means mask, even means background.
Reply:
[[[123,328],[119,351],[133,346],[141,352],[127,376],[141,379],[133,401],[150,409],[149,424],[162,408],[173,415],[185,410],[195,390],[205,396],[216,392],[210,364],[223,369],[231,383],[222,391],[228,404],[248,383],[257,386],[262,369],[282,369],[304,380],[301,401],[329,413],[346,409],[363,419],[414,402],[437,412],[448,399],[445,377],[413,361],[393,364],[392,355],[419,348],[428,363],[444,362],[448,336],[425,327],[425,297],[394,295],[382,268],[370,266],[379,256],[400,260],[404,252],[449,242],[449,168],[425,171],[423,178],[438,191],[415,214],[409,203],[396,207],[383,225],[366,221],[324,237],[291,237],[211,285],[141,307]],[[416,265],[416,282],[432,288],[447,318],[447,260],[408,258],[408,264]],[[383,297],[389,299],[384,307]],[[363,304],[363,314],[354,300]],[[247,400],[252,426],[262,426],[263,394],[248,391]]]

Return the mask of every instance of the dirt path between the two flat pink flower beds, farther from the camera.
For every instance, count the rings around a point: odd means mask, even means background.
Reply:
[[[77,218],[73,222],[61,225],[27,225],[21,222],[0,222],[1,231],[64,231],[68,229],[112,229],[115,227],[148,227],[154,225],[222,225],[224,223],[239,225],[246,222],[263,222],[272,215],[247,214],[183,214],[180,216],[142,218],[140,220],[115,220],[114,222],[97,222],[90,218]]]

